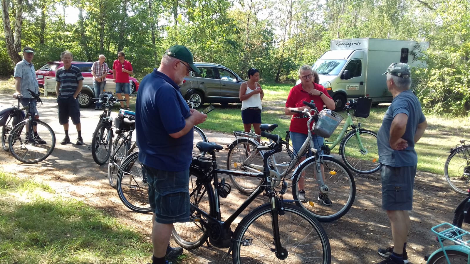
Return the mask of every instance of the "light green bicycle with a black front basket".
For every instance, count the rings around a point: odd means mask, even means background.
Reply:
[[[343,129],[333,141],[323,140],[326,155],[339,144],[339,154],[346,166],[359,174],[370,174],[380,169],[378,163],[377,134],[368,129],[360,128],[352,121],[352,116],[368,117],[372,99],[361,97],[357,100],[346,102],[345,109],[347,117]],[[353,111],[351,115],[350,110]],[[351,128],[350,128],[351,127]],[[290,132],[286,132],[286,141],[290,142]]]

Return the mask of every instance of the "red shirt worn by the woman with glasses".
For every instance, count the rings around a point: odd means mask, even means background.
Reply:
[[[319,90],[320,92],[323,92],[326,96],[331,98],[331,96],[329,96],[328,91],[325,89],[325,87],[316,83],[313,83],[313,86],[315,89]],[[304,91],[304,89],[302,89],[302,84],[300,83],[292,87],[292,89],[290,89],[289,96],[287,96],[286,107],[302,107],[302,106],[305,106],[303,101],[310,102],[312,100],[315,106],[317,107],[317,109],[321,111],[321,109],[323,109],[323,106],[325,105],[323,100],[321,100],[321,97],[317,95],[308,94],[307,92]],[[290,119],[289,131],[306,134],[308,118],[294,118],[299,115],[300,114],[297,113],[293,115],[292,118]],[[312,122],[312,125],[313,125],[313,122]]]

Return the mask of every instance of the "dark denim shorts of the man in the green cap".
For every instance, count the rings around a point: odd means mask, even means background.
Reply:
[[[189,168],[186,171],[162,171],[143,165],[149,180],[149,204],[160,224],[189,221]]]

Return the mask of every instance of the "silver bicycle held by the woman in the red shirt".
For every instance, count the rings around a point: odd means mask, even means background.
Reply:
[[[293,155],[290,153],[290,149],[284,148],[289,153],[288,161],[277,162],[274,156],[268,158],[270,180],[275,182],[277,186],[281,184],[282,179],[292,179],[292,196],[296,200],[295,203],[309,211],[318,220],[329,222],[342,217],[351,208],[356,195],[356,184],[351,173],[343,163],[330,155],[320,155],[317,149],[312,147],[313,139],[310,124],[317,118],[318,110],[315,104],[306,101],[304,101],[304,104],[311,107],[312,110],[293,110],[292,112],[301,113],[309,118],[307,121],[307,138],[302,144],[298,155]],[[310,111],[314,111],[315,114],[312,115]],[[262,132],[265,132],[266,129],[272,131],[275,127],[277,127],[277,124],[264,124],[262,125]],[[246,173],[263,171],[265,166],[261,165],[263,163],[260,160],[264,159],[266,152],[260,150],[263,146],[260,145],[256,138],[253,139],[256,136],[246,135],[248,138],[236,139],[228,147],[227,169],[246,171]],[[288,144],[288,142],[282,140],[282,145],[287,146]],[[251,152],[248,152],[248,149],[251,149]],[[313,154],[298,165],[300,157],[307,153],[309,149]],[[324,179],[321,172],[321,164],[325,171]],[[295,171],[292,177],[288,177],[294,168]],[[318,177],[315,176],[315,172]],[[297,183],[300,179],[305,181],[304,191],[308,191],[311,194],[318,191],[320,194],[331,195],[330,199],[332,201],[334,199],[333,204],[331,206],[315,206],[318,203],[312,200],[299,202],[300,189]],[[230,180],[243,194],[252,194],[254,190],[263,184],[262,179],[255,179],[249,175],[246,177],[230,177]]]

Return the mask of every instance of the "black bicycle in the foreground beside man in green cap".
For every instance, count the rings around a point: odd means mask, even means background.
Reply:
[[[197,143],[200,151],[211,155],[193,157],[190,167],[189,197],[190,217],[186,223],[175,223],[172,235],[187,250],[202,246],[205,242],[218,248],[229,248],[234,264],[277,263],[289,259],[290,263],[316,262],[329,264],[331,248],[325,230],[315,217],[284,200],[287,183],[273,185],[268,169],[268,158],[282,151],[277,135],[262,132],[273,143],[258,146],[264,153],[263,172],[230,171],[217,168],[216,151],[223,149],[214,143]],[[219,174],[263,178],[262,185],[249,196],[235,212],[222,221],[219,198],[230,194],[230,185]],[[268,196],[266,202],[242,218],[232,231],[230,225],[258,195]]]

